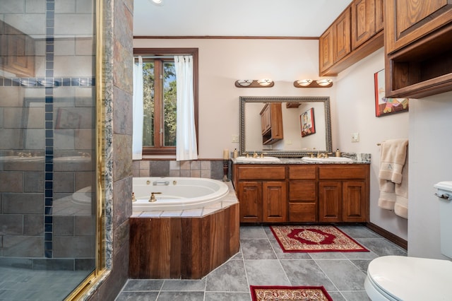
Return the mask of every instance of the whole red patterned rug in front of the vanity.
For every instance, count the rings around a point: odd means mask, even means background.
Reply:
[[[369,252],[332,225],[277,225],[270,230],[284,252]]]

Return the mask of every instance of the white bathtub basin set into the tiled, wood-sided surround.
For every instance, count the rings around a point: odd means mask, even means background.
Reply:
[[[229,193],[225,182],[198,177],[134,177],[133,211],[172,211],[213,204]],[[155,193],[157,201],[150,202]]]

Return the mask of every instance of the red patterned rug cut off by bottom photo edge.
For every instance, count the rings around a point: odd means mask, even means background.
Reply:
[[[253,301],[333,301],[323,286],[250,285]]]

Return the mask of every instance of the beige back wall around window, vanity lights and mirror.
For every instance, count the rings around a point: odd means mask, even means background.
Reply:
[[[318,40],[181,39],[133,41],[133,47],[199,49],[199,158],[222,158],[239,149],[240,96],[330,96],[333,88],[295,88],[301,78],[319,78]],[[273,88],[236,88],[241,78],[272,78]],[[334,146],[334,143],[333,143]]]

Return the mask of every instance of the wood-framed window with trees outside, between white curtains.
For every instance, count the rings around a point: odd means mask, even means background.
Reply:
[[[194,107],[198,137],[198,49],[134,49],[143,57],[143,155],[176,153],[176,71],[174,55],[194,59]]]

